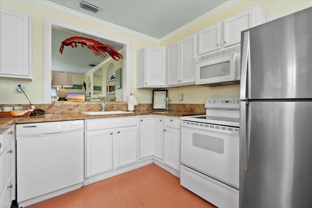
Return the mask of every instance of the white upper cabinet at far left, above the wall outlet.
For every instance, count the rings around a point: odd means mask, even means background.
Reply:
[[[0,10],[0,76],[32,79],[31,17]]]

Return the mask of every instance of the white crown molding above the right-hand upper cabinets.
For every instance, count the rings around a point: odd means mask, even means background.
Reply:
[[[175,31],[169,33],[168,35],[162,37],[159,39],[159,42],[163,42],[169,38],[173,38],[175,37],[176,35],[178,35],[179,33],[191,28],[191,27],[194,27],[195,25],[199,24],[200,22],[206,20],[206,19],[209,19],[221,12],[223,12],[224,10],[234,6],[235,4],[241,2],[242,0],[228,0],[226,2],[224,2],[223,4],[219,5],[218,7],[215,7],[215,9],[213,10],[210,10],[209,12],[203,14],[202,16],[194,19],[193,21],[190,21],[189,23],[183,25],[182,27],[176,29]]]

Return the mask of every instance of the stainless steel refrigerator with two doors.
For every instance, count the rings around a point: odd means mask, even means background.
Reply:
[[[312,208],[312,7],[241,33],[240,208]]]

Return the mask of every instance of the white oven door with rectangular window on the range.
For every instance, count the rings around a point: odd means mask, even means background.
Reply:
[[[239,129],[181,121],[181,163],[239,188]]]

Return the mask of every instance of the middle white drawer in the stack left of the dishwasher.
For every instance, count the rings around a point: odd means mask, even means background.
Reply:
[[[3,151],[0,156],[0,193],[4,189],[8,179],[12,175],[12,154],[15,153],[12,150],[12,145]]]

